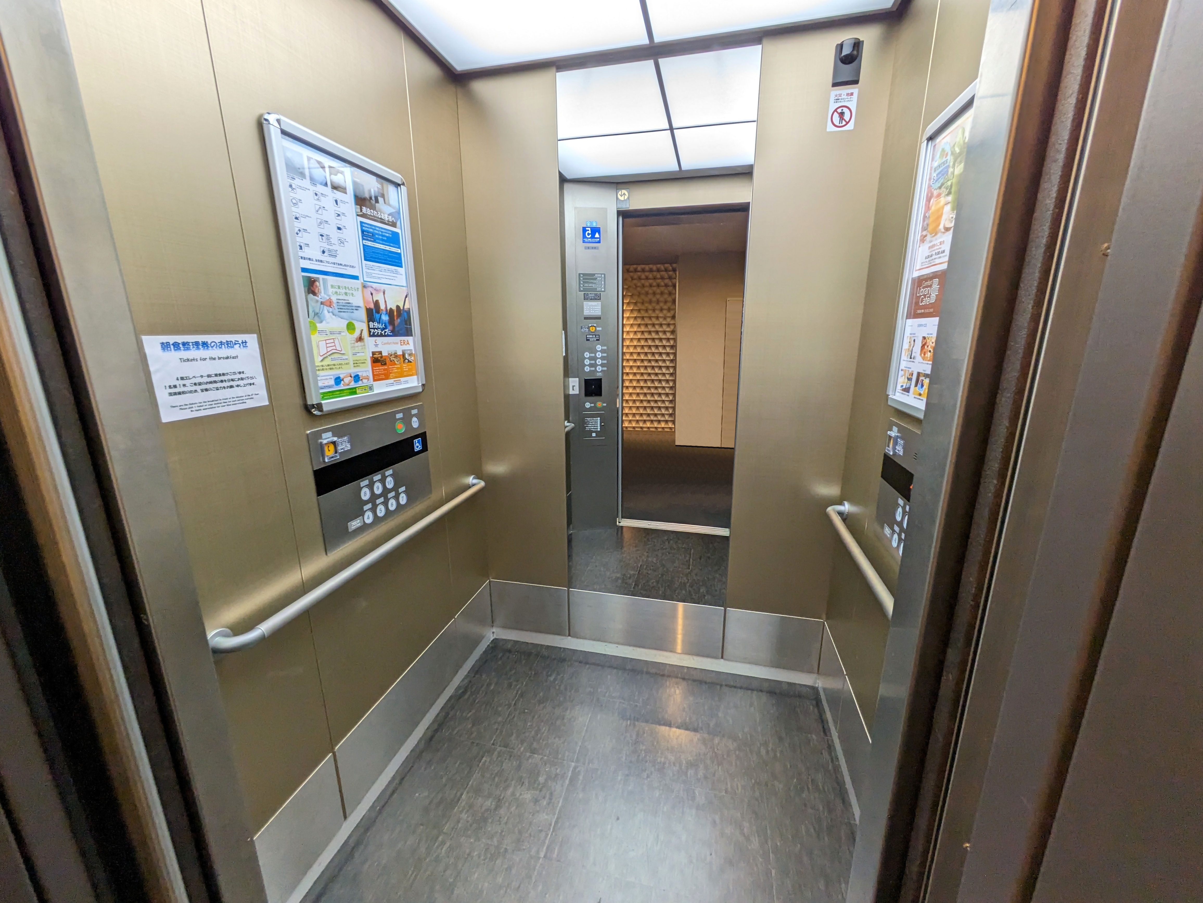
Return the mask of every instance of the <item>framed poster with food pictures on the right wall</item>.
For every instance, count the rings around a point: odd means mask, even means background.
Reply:
[[[931,360],[976,90],[977,82],[928,126],[919,153],[919,177],[907,228],[894,356],[885,393],[890,406],[920,420],[928,405]]]

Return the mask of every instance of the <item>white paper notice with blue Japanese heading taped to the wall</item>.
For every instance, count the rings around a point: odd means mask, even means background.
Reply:
[[[267,404],[259,337],[143,335],[164,423]]]

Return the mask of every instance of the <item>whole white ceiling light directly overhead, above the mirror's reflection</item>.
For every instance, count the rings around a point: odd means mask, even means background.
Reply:
[[[753,43],[768,30],[897,8],[901,0],[387,0],[457,72],[697,37]],[[666,44],[660,48],[660,44]],[[579,63],[577,63],[579,65]]]

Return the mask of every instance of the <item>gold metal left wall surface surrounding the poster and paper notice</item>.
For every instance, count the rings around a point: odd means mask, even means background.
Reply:
[[[66,17],[138,331],[260,335],[269,406],[162,428],[206,624],[237,631],[481,469],[456,89],[383,10],[355,0],[213,0],[203,11],[200,0],[69,0]],[[355,52],[316,65],[332,43]],[[409,186],[428,382],[407,400],[426,404],[434,494],[330,557],[306,430],[396,403],[324,418],[303,405],[260,129],[267,111]],[[324,602],[318,620],[218,663],[256,830],[330,754],[331,725],[349,730],[486,578],[473,503]],[[331,624],[327,608],[356,617]],[[355,655],[373,642],[380,654]]]

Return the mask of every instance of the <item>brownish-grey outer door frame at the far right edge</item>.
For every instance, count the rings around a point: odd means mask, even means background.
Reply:
[[[1074,354],[1073,343],[1066,339],[1081,341],[1075,379],[1038,379],[1035,386],[1033,406],[1042,396],[1060,397],[1066,405],[1060,429],[1045,428],[1030,436],[1031,447],[1025,448],[1017,476],[1041,491],[1045,519],[1032,539],[1031,558],[1021,554],[1024,523],[1008,525],[1003,533],[1000,568],[1011,566],[1015,586],[998,600],[1008,602],[1007,607],[997,616],[991,611],[984,624],[982,648],[989,654],[979,655],[984,666],[976,670],[966,700],[961,743],[966,749],[964,755],[959,750],[949,789],[950,807],[967,809],[971,832],[964,833],[962,812],[955,812],[960,824],[946,819],[941,854],[953,865],[943,866],[947,875],[937,873],[943,884],[930,899],[946,898],[954,880],[959,881],[958,898],[1063,899],[1086,892],[1078,874],[1085,865],[1096,867],[1090,875],[1096,889],[1108,887],[1114,899],[1130,899],[1122,889],[1131,887],[1127,883],[1142,866],[1151,865],[1119,855],[1139,820],[1118,818],[1122,806],[1115,798],[1102,807],[1109,819],[1095,818],[1094,809],[1083,803],[1108,792],[1100,776],[1110,772],[1115,779],[1116,754],[1133,759],[1133,780],[1156,782],[1160,776],[1142,771],[1148,759],[1140,756],[1150,750],[1169,756],[1173,749],[1185,755],[1191,737],[1187,731],[1175,732],[1174,720],[1187,717],[1189,709],[1161,700],[1137,718],[1142,732],[1132,749],[1114,736],[1101,735],[1097,725],[1094,733],[1088,731],[1091,711],[1114,707],[1118,687],[1130,697],[1136,681],[1143,681],[1143,687],[1136,684],[1143,689],[1137,696],[1161,693],[1163,697],[1167,690],[1156,679],[1160,661],[1144,672],[1125,670],[1119,681],[1114,672],[1109,683],[1102,678],[1109,654],[1122,655],[1126,647],[1131,660],[1144,641],[1145,654],[1156,657],[1158,649],[1173,644],[1161,643],[1149,624],[1143,625],[1143,637],[1132,631],[1112,636],[1112,618],[1119,617],[1118,607],[1125,604],[1149,605],[1150,589],[1158,581],[1187,586],[1185,571],[1169,581],[1158,577],[1152,565],[1158,559],[1165,565],[1172,558],[1167,549],[1174,541],[1183,543],[1180,534],[1175,540],[1175,529],[1191,530],[1189,521],[1174,522],[1167,513],[1174,507],[1173,481],[1189,479],[1181,468],[1185,456],[1180,450],[1174,455],[1173,442],[1184,439],[1183,418],[1195,418],[1196,432],[1198,426],[1197,386],[1180,387],[1179,379],[1187,356],[1199,354],[1203,286],[1203,177],[1197,168],[1203,101],[1192,81],[1196,48],[1203,41],[1203,10],[1171,0],[1162,18],[1160,11],[1150,16],[1148,8],[1128,11],[1120,5],[1108,41],[1104,69],[1114,67],[1114,73],[1104,71],[1102,90],[1106,96],[1107,81],[1114,78],[1118,100],[1100,114],[1100,135],[1092,138],[1097,153],[1116,154],[1125,143],[1122,126],[1138,124],[1138,130],[1128,145],[1131,160],[1118,210],[1112,214],[1109,240],[1098,244],[1100,236],[1092,232],[1098,212],[1092,207],[1067,228],[1067,242],[1080,230],[1083,245],[1106,263],[1089,297],[1077,298],[1075,286],[1065,286],[1068,297],[1061,303],[1080,305],[1088,314],[1079,317],[1077,333],[1062,329],[1054,337],[1050,331],[1049,352]],[[1124,118],[1128,121],[1116,123]],[[1183,148],[1196,152],[1192,155]],[[1100,180],[1113,180],[1104,188],[1114,190],[1114,173],[1106,165],[1098,168]],[[1139,305],[1132,303],[1134,297],[1140,298]],[[1197,378],[1197,361],[1192,364]],[[1167,423],[1171,433],[1165,432]],[[1158,534],[1168,536],[1163,545]],[[1011,543],[1020,552],[1009,549]],[[1198,570],[1197,560],[1184,564],[1191,566]],[[1197,730],[1193,733],[1197,737]],[[1091,782],[1098,783],[1091,786]],[[1184,780],[1173,791],[1165,785],[1161,790],[1181,801],[1198,788],[1198,780]],[[1134,806],[1149,803],[1131,785],[1112,796]],[[1057,837],[1059,824],[1068,836]],[[1098,849],[1092,838],[1110,855],[1092,855]],[[1071,850],[1077,863],[1067,868]],[[1043,871],[1047,855],[1059,857],[1051,860],[1057,867],[1048,874]],[[1183,866],[1181,859],[1158,862],[1160,879],[1173,875],[1187,886],[1197,865]],[[1091,898],[1089,892],[1086,898]]]

